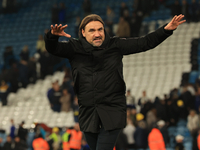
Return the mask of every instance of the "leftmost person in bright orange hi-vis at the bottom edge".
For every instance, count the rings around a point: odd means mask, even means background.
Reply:
[[[36,134],[32,145],[34,150],[49,150],[49,145],[47,141],[43,139],[41,134]]]

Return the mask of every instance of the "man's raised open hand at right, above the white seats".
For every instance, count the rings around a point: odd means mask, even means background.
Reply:
[[[176,15],[174,18],[165,26],[165,30],[175,30],[180,24],[184,23],[186,20],[182,20],[184,15]],[[181,21],[182,20],[182,21]]]

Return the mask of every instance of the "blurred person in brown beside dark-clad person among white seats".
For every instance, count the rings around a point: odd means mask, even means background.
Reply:
[[[71,110],[71,95],[67,89],[63,89],[63,94],[60,98],[61,111],[69,112]]]

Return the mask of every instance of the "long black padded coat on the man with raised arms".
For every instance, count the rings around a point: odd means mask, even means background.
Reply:
[[[164,27],[137,39],[110,38],[105,33],[100,47],[93,47],[83,37],[58,42],[59,37],[51,32],[45,35],[47,51],[70,61],[82,131],[98,133],[100,120],[105,130],[126,126],[123,55],[154,48],[171,34]]]

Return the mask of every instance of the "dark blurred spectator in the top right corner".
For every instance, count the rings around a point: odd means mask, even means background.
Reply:
[[[191,16],[191,21],[197,22],[199,21],[198,12],[199,11],[199,4],[196,0],[192,0],[192,3],[189,6],[189,13]]]

